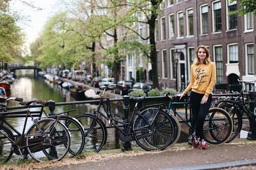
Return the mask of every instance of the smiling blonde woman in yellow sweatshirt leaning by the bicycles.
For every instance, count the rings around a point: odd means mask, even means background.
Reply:
[[[177,96],[180,99],[191,89],[190,103],[192,115],[195,120],[195,133],[193,134],[193,147],[206,149],[204,139],[204,120],[212,102],[212,90],[216,83],[216,67],[211,62],[207,46],[200,45],[196,48],[195,60],[191,66],[191,80],[188,87]]]

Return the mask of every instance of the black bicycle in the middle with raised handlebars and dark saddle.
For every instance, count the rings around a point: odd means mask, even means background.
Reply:
[[[141,148],[147,151],[163,150],[176,141],[175,137],[177,138],[179,134],[176,122],[173,122],[172,118],[160,107],[138,109],[138,103],[143,101],[144,97],[131,97],[136,104],[130,120],[124,122],[113,118],[110,100],[104,98],[105,91],[111,87],[115,87],[115,84],[101,87],[102,94],[95,90],[95,94],[100,96],[100,101],[93,114],[83,113],[75,117],[85,130],[84,151],[99,152],[108,138],[107,128],[118,129],[118,135],[122,141],[136,141]],[[107,127],[102,120],[108,121],[109,126]]]

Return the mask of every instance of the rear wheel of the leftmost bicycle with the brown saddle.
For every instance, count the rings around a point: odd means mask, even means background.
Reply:
[[[67,127],[52,118],[38,120],[38,127],[32,125],[26,134],[29,155],[38,162],[63,159],[70,146]]]

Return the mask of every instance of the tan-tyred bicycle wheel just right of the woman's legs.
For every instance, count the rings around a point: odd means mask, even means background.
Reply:
[[[204,122],[205,141],[211,145],[225,143],[231,136],[233,121],[227,111],[211,108]]]

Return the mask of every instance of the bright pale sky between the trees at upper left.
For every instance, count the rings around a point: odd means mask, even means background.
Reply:
[[[17,11],[19,15],[24,16],[18,25],[26,34],[24,50],[29,54],[29,44],[38,38],[49,17],[58,11],[60,0],[24,0],[31,2],[38,8],[42,8],[42,10],[31,8],[31,6],[24,5],[20,1],[22,0],[11,1],[11,8]]]

